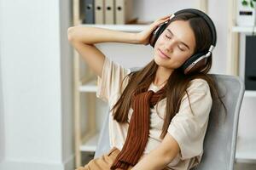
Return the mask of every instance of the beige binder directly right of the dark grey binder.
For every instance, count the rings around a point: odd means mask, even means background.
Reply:
[[[105,8],[105,0],[95,0],[94,2],[94,11],[95,11],[95,24],[104,24],[104,8]]]

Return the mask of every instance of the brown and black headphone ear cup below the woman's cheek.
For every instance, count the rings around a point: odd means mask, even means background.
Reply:
[[[187,59],[181,66],[181,69],[184,72],[184,74],[187,74],[188,72],[195,71],[197,68],[200,68],[201,66],[206,65],[207,58],[203,58],[195,63],[195,61],[203,55],[205,55],[205,54],[198,53],[198,54],[194,54],[191,57],[189,57],[189,59]]]

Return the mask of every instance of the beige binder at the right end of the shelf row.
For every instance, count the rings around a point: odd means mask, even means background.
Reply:
[[[132,0],[115,0],[115,23],[116,24],[127,24],[132,20]]]

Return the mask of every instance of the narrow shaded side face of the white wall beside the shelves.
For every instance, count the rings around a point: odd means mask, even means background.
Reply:
[[[67,28],[73,25],[72,1],[60,0],[61,45],[61,129],[62,164],[71,170],[74,166],[73,134],[73,48],[67,40]]]

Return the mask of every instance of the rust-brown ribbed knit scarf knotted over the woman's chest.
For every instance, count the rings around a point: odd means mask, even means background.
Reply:
[[[127,170],[128,167],[137,164],[148,142],[150,123],[149,107],[154,107],[163,94],[165,95],[165,88],[161,88],[156,93],[152,90],[147,90],[146,92],[133,96],[131,100],[133,113],[131,115],[125,144],[119,152],[119,155],[115,158],[115,161],[113,161],[113,165],[110,169],[115,170],[116,168],[121,168]]]

